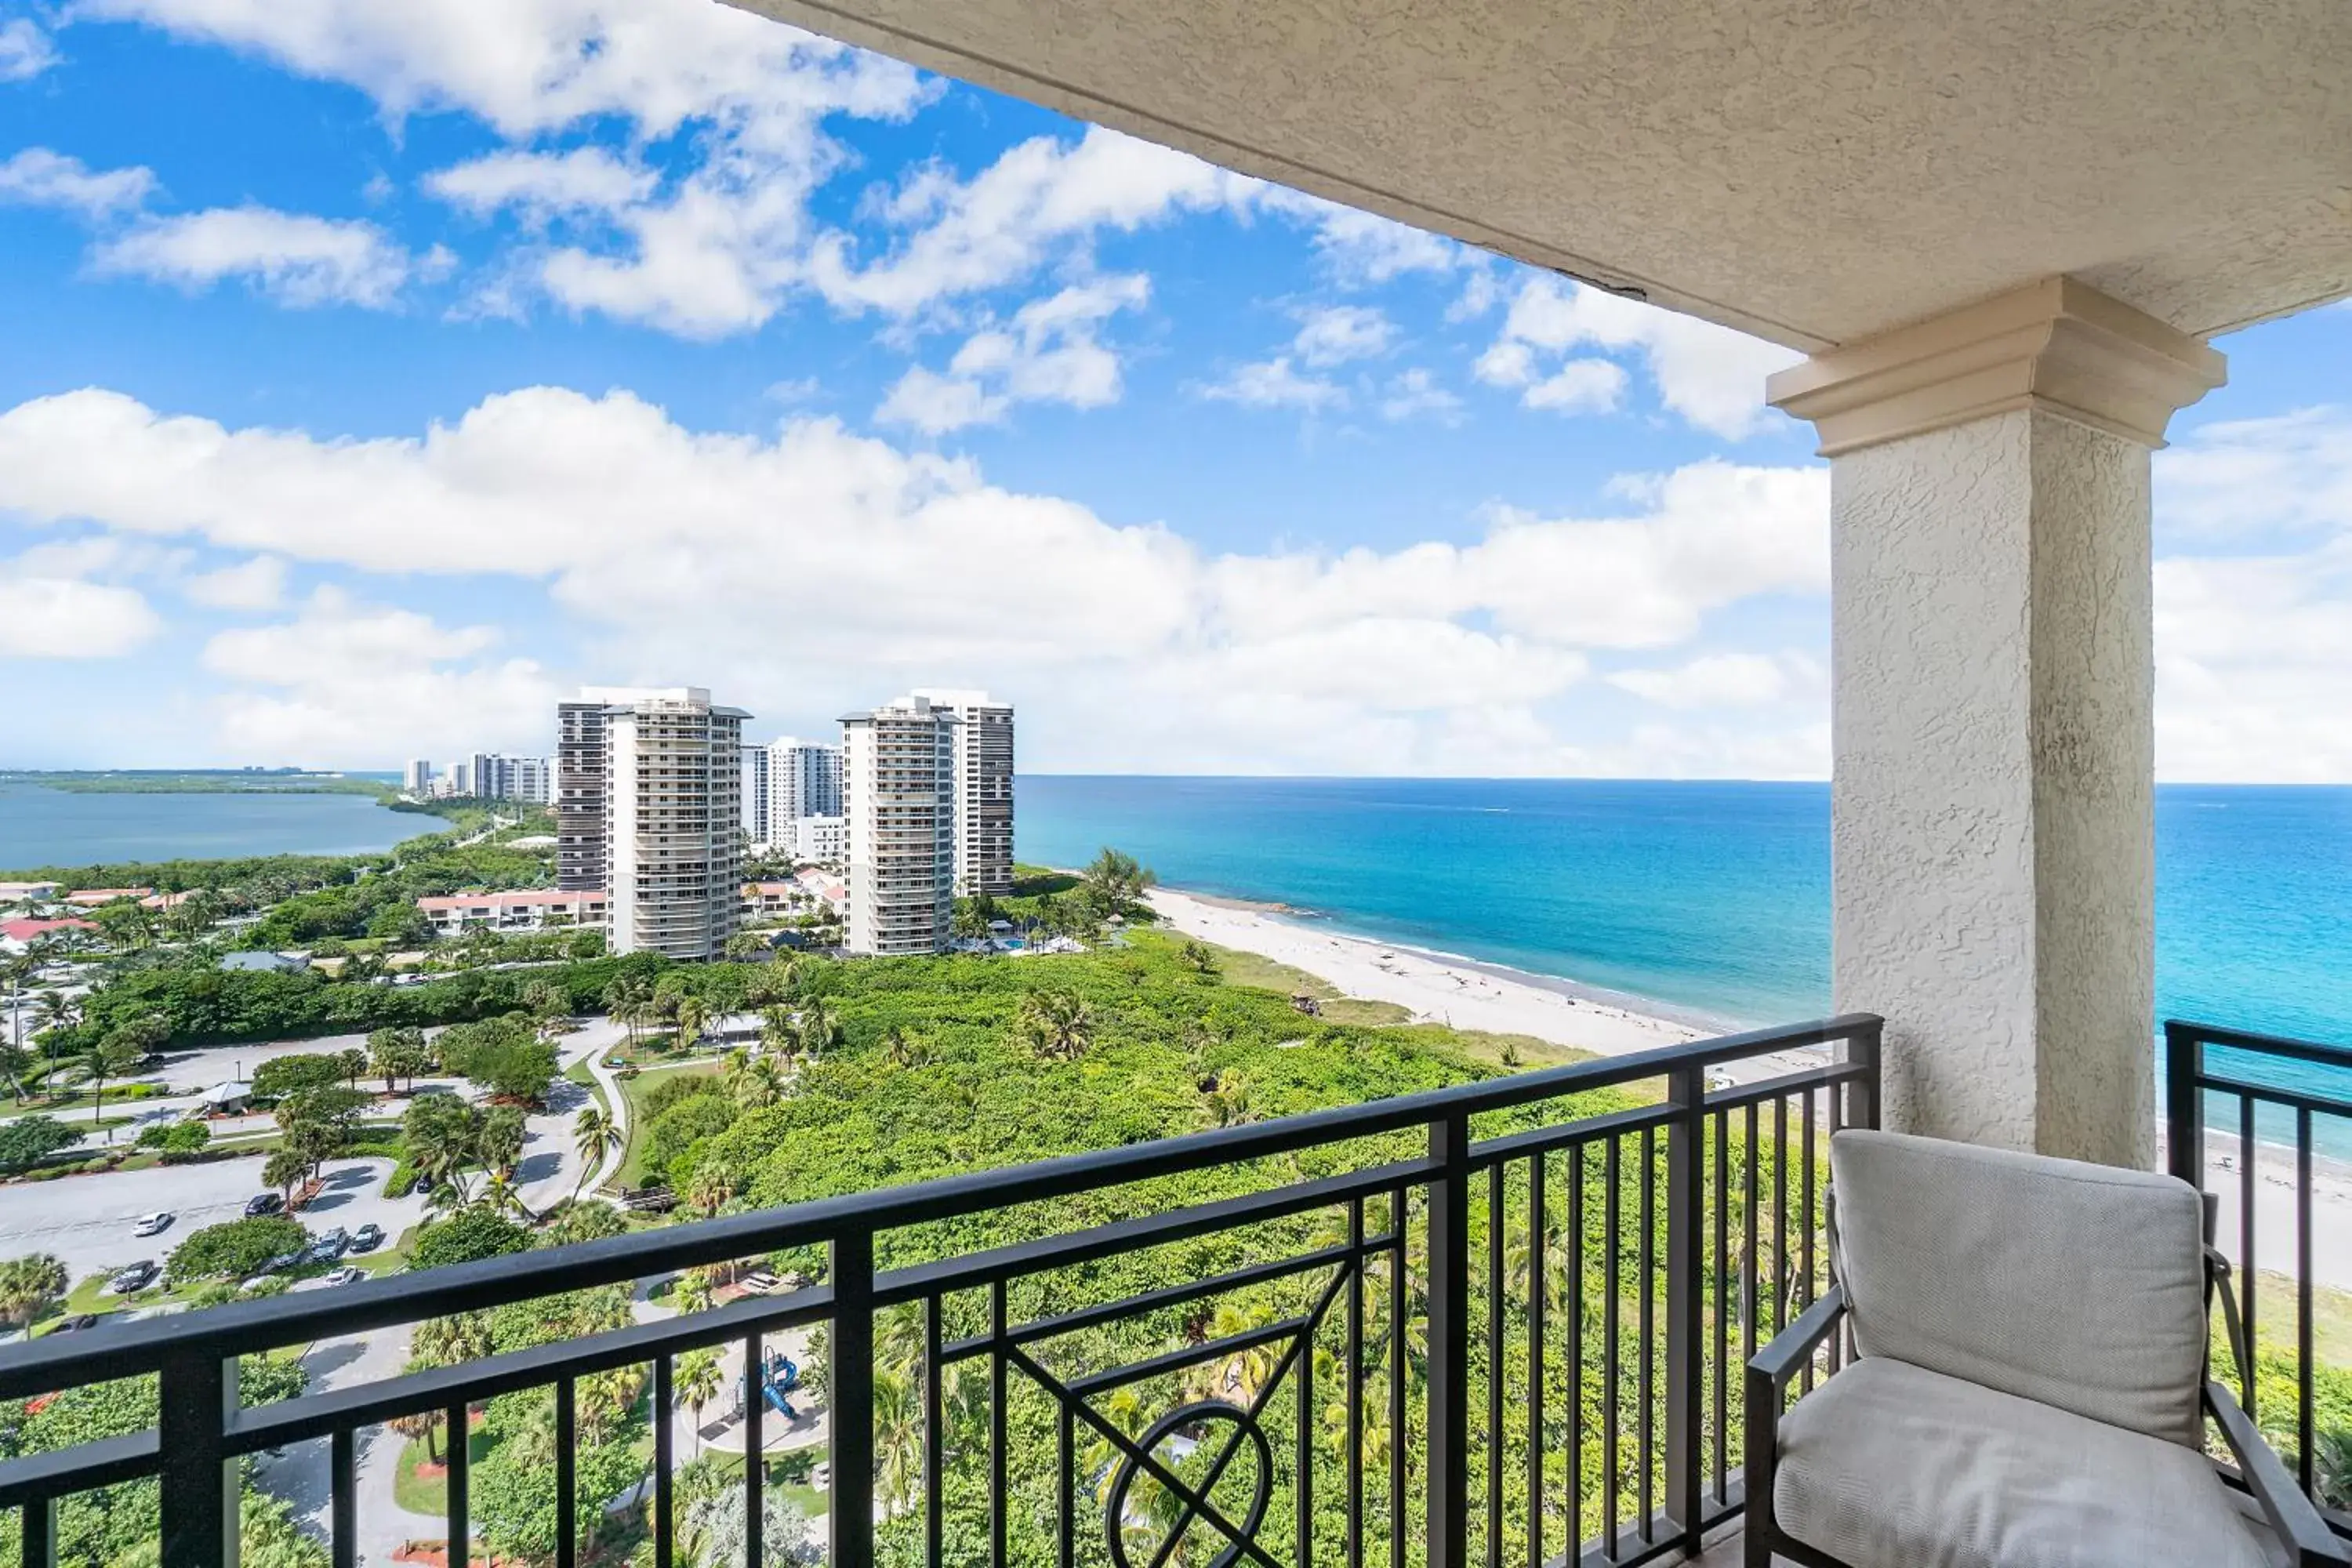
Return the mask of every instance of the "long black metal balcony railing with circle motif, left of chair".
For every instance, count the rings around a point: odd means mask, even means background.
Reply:
[[[235,1561],[242,1460],[325,1443],[341,1568],[362,1434],[437,1415],[447,1540],[470,1542],[470,1408],[553,1389],[546,1561],[572,1568],[609,1526],[576,1497],[576,1389],[640,1368],[649,1476],[609,1512],[656,1568],[691,1568],[680,1356],[741,1345],[750,1375],[774,1335],[814,1331],[835,1568],[873,1563],[877,1530],[929,1566],[1630,1568],[1743,1507],[1733,1368],[1828,1286],[1828,1138],[1877,1124],[1877,1086],[1879,1020],[1846,1016],[49,1335],[0,1352],[0,1399],[158,1375],[160,1418],[0,1462],[0,1509],[47,1568],[61,1497],[153,1479],[160,1561],[214,1568]],[[978,1215],[1018,1239],[957,1248]],[[816,1284],[238,1408],[240,1356],[774,1255]],[[906,1314],[917,1420],[882,1432],[877,1331]],[[746,1455],[764,1420],[750,1389]],[[908,1429],[913,1455],[877,1450]],[[790,1544],[762,1556],[767,1469],[729,1481],[746,1563]]]

